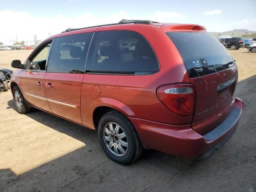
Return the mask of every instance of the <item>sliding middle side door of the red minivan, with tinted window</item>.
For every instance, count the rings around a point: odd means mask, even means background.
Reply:
[[[52,112],[78,123],[82,123],[82,79],[92,35],[84,33],[56,38],[44,77],[46,96]]]

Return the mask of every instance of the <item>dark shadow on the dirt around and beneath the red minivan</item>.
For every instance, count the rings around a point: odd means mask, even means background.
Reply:
[[[96,131],[35,110],[26,116],[84,142],[86,146],[21,175],[16,175],[10,169],[0,170],[0,191],[215,192],[216,186],[223,185],[227,185],[230,191],[239,187],[247,189],[256,176],[253,171],[255,146],[248,142],[254,140],[255,136],[252,129],[254,121],[250,120],[255,118],[255,84],[256,76],[238,82],[236,96],[244,100],[244,112],[238,129],[224,147],[204,160],[187,160],[148,150],[131,165],[116,164],[102,151]],[[13,100],[8,101],[10,108],[16,110]],[[251,174],[252,179],[244,181],[244,172]],[[220,180],[220,176],[227,179]]]

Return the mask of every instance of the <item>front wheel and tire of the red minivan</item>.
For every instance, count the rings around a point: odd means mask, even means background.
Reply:
[[[21,90],[17,85],[14,86],[12,90],[12,96],[13,96],[14,104],[16,106],[18,113],[26,114],[31,111],[31,108],[28,107],[26,100],[22,95]]]

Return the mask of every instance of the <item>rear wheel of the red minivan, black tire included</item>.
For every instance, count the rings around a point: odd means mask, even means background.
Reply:
[[[111,111],[102,116],[98,137],[106,155],[119,164],[131,164],[142,155],[143,146],[138,133],[120,112]]]

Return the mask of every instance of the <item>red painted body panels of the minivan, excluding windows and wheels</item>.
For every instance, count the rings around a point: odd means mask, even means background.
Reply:
[[[236,66],[190,79],[180,53],[165,34],[171,31],[206,32],[206,28],[194,24],[120,24],[74,30],[54,35],[47,40],[106,30],[131,30],[142,34],[156,53],[160,63],[159,72],[152,75],[123,76],[16,70],[11,82],[18,84],[26,100],[36,108],[92,129],[95,129],[93,112],[96,108],[107,106],[116,109],[135,126],[145,148],[187,158],[207,152],[236,128],[237,124],[211,142],[202,137],[202,134],[227,118],[233,106],[242,110],[242,101],[233,96],[236,84],[221,93],[217,92],[218,85],[238,77]],[[170,84],[189,84],[193,88],[196,99],[194,94],[190,99],[195,104],[192,107],[190,101],[185,102],[186,105],[191,105],[187,113],[173,112],[172,108],[158,98],[158,88],[165,88]],[[26,92],[53,102],[30,98],[26,96]]]

